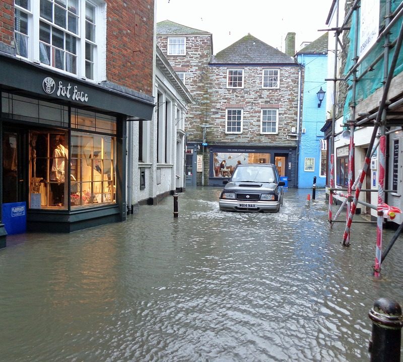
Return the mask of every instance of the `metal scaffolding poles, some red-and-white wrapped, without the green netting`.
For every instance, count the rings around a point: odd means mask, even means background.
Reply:
[[[398,55],[401,49],[401,43],[403,40],[403,24],[400,27],[400,31],[398,33],[398,37],[392,43],[390,42],[390,31],[391,27],[396,24],[397,20],[400,17],[403,17],[403,3],[399,4],[395,11],[391,13],[391,0],[386,1],[386,16],[385,16],[385,27],[383,31],[379,34],[376,42],[374,45],[371,46],[369,51],[362,56],[361,58],[358,55],[358,37],[359,37],[359,12],[358,9],[361,6],[361,0],[355,0],[352,4],[351,8],[349,9],[344,21],[343,25],[339,27],[339,0],[335,3],[335,16],[336,16],[336,27],[335,31],[335,59],[334,59],[334,75],[333,79],[326,79],[333,81],[333,112],[332,112],[332,119],[331,119],[331,134],[329,137],[329,160],[330,160],[330,177],[329,177],[329,208],[328,208],[328,221],[330,223],[330,227],[332,227],[333,222],[337,222],[337,220],[332,219],[332,204],[333,204],[333,193],[335,195],[339,195],[340,197],[344,197],[345,200],[343,201],[342,207],[347,205],[347,215],[346,215],[346,228],[343,234],[343,242],[344,246],[350,245],[350,231],[351,225],[353,223],[353,217],[356,212],[357,204],[363,204],[366,207],[370,207],[372,209],[377,210],[377,233],[376,233],[376,251],[375,251],[375,265],[374,265],[374,276],[379,277],[380,269],[381,269],[381,262],[383,261],[382,257],[382,237],[383,237],[383,221],[385,217],[391,215],[393,212],[401,212],[398,208],[389,207],[385,204],[385,169],[386,169],[386,134],[387,126],[401,126],[401,121],[399,123],[389,122],[387,120],[388,111],[392,110],[394,107],[401,106],[403,104],[403,99],[393,104],[388,101],[388,92],[390,88],[390,83],[393,78],[393,73],[396,67]],[[353,44],[353,65],[351,66],[350,70],[347,72],[347,75],[344,78],[338,77],[338,44],[341,44],[339,37],[342,35],[344,30],[350,30],[351,28],[347,27],[350,19],[353,18],[356,22],[355,33],[354,33],[354,44]],[[357,72],[359,69],[359,65],[363,62],[372,50],[375,49],[377,43],[379,43],[383,39],[383,53],[376,57],[375,61],[371,63],[365,70],[361,70],[360,76],[357,77]],[[394,49],[394,54],[392,61],[390,62],[389,66],[389,53],[391,48]],[[343,49],[344,50],[344,49]],[[344,51],[344,54],[346,52]],[[366,114],[359,114],[359,117],[364,115],[363,120],[356,119],[356,105],[357,105],[357,83],[361,81],[364,75],[373,70],[373,67],[379,63],[380,60],[384,61],[384,68],[383,68],[383,92],[382,92],[382,99],[379,103],[378,111],[374,114],[370,114],[369,112]],[[347,184],[347,195],[342,193],[338,193],[333,191],[335,188],[335,176],[336,172],[334,172],[334,155],[335,152],[335,119],[336,119],[336,104],[337,104],[337,96],[338,96],[338,81],[347,81],[352,76],[352,85],[348,88],[351,91],[352,97],[351,102],[349,104],[351,114],[350,119],[346,122],[346,126],[350,128],[350,142],[349,142],[349,157],[348,157],[348,184]],[[361,169],[359,177],[355,180],[353,184],[353,175],[354,175],[354,165],[355,165],[355,158],[354,158],[354,151],[355,151],[355,144],[354,144],[354,133],[356,131],[356,127],[361,125],[369,125],[373,126],[372,135],[370,142],[368,144],[367,152],[364,159],[364,165]],[[403,127],[401,127],[403,129]],[[379,137],[379,143],[375,144],[376,138]],[[375,152],[376,148],[379,147],[379,172],[378,172],[378,197],[377,197],[377,205],[372,205],[371,203],[361,202],[359,201],[360,192],[362,190],[362,185],[365,180],[365,177],[368,173],[368,168],[370,165],[370,160]],[[354,192],[354,198],[353,198]],[[342,208],[341,207],[341,208]],[[340,209],[341,210],[341,209]],[[340,210],[336,214],[336,217],[340,214]],[[393,214],[394,215],[394,214]],[[394,216],[393,216],[394,217]],[[401,230],[403,227],[400,227]],[[394,238],[397,238],[395,236]],[[394,241],[393,241],[394,242]],[[391,242],[389,246],[391,247],[393,243]],[[387,252],[390,248],[388,248]]]

